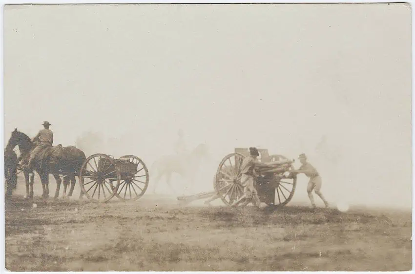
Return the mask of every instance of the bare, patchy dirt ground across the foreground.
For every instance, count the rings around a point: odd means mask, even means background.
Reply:
[[[10,271],[412,269],[411,211],[184,207],[150,194],[96,204],[42,200],[39,185],[32,201],[21,183],[6,197]]]

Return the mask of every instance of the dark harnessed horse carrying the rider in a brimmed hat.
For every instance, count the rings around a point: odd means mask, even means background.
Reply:
[[[20,150],[20,158],[22,164],[29,162],[30,152],[36,147],[36,144],[30,140],[30,138],[15,128],[7,143],[7,149],[13,149],[16,146]],[[72,196],[73,189],[75,187],[75,174],[79,174],[79,170],[86,159],[85,153],[82,150],[75,147],[48,147],[44,148],[38,156],[39,159],[35,159],[33,162],[33,170],[24,169],[24,177],[26,179],[26,197],[33,198],[33,177],[31,176],[29,182],[29,173],[33,173],[34,170],[39,174],[42,181],[42,197],[47,198],[49,196],[49,174],[55,177],[57,188],[55,192],[55,198],[59,196],[59,189],[61,187],[62,180],[59,174],[64,177],[65,190],[68,180],[71,180],[71,189],[68,196]],[[29,190],[30,186],[30,190]],[[64,193],[66,194],[66,193]],[[81,196],[82,197],[82,193]]]

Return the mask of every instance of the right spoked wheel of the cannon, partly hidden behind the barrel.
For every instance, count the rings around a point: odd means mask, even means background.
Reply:
[[[271,155],[270,161],[287,160],[287,157],[283,155]],[[297,186],[297,176],[293,173],[285,172],[281,174],[275,174],[279,181],[277,187],[275,187],[275,199],[273,203],[267,203],[269,206],[285,206],[287,205],[292,196],[294,195],[295,187]]]

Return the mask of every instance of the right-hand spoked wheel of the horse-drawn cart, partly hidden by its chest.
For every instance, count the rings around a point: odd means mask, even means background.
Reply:
[[[136,201],[144,195],[148,187],[149,175],[144,162],[134,155],[125,155],[120,159],[129,160],[137,164],[137,172],[121,180],[120,188],[115,194],[120,200]],[[124,194],[123,194],[124,191]]]

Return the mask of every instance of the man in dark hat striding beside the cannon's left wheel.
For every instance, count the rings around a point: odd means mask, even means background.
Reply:
[[[268,167],[269,164],[261,163],[256,158],[259,156],[257,148],[249,148],[249,157],[245,158],[241,165],[241,185],[244,187],[244,195],[235,201],[231,206],[235,207],[242,202],[247,205],[252,201],[253,205],[260,207],[261,201],[258,197],[258,192],[254,187],[254,169],[255,167]]]

